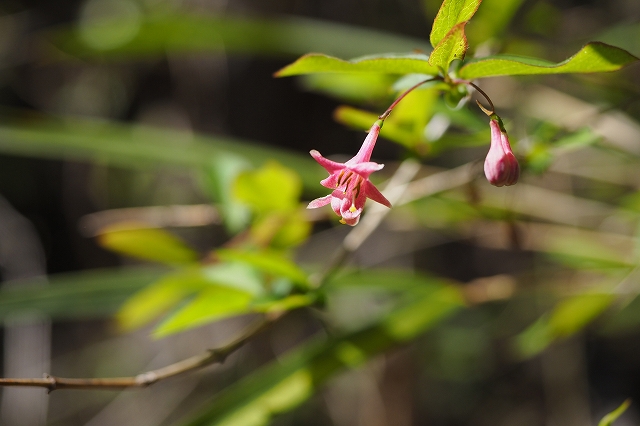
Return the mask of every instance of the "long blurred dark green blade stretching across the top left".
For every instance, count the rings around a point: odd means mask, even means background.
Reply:
[[[335,22],[279,17],[259,19],[240,16],[162,14],[143,15],[130,31],[130,22],[102,21],[76,27],[62,27],[44,34],[47,41],[67,54],[80,57],[122,59],[143,55],[181,52],[251,53],[297,56],[307,52],[355,57],[376,52],[428,50],[419,38],[399,36]],[[96,30],[130,37],[120,43],[95,43],[84,35]],[[98,41],[100,37],[98,37]],[[59,55],[57,57],[60,57]],[[68,57],[68,56],[66,56]]]

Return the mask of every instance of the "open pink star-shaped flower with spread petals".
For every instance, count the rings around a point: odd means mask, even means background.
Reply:
[[[389,200],[369,181],[371,173],[384,167],[384,164],[369,161],[381,127],[381,120],[373,124],[360,151],[346,163],[328,160],[315,149],[310,152],[311,156],[329,172],[329,177],[322,180],[320,184],[333,189],[333,192],[310,202],[307,206],[308,209],[315,209],[331,203],[333,211],[338,216],[342,216],[340,222],[354,226],[360,220],[360,214],[367,198],[391,207]]]

